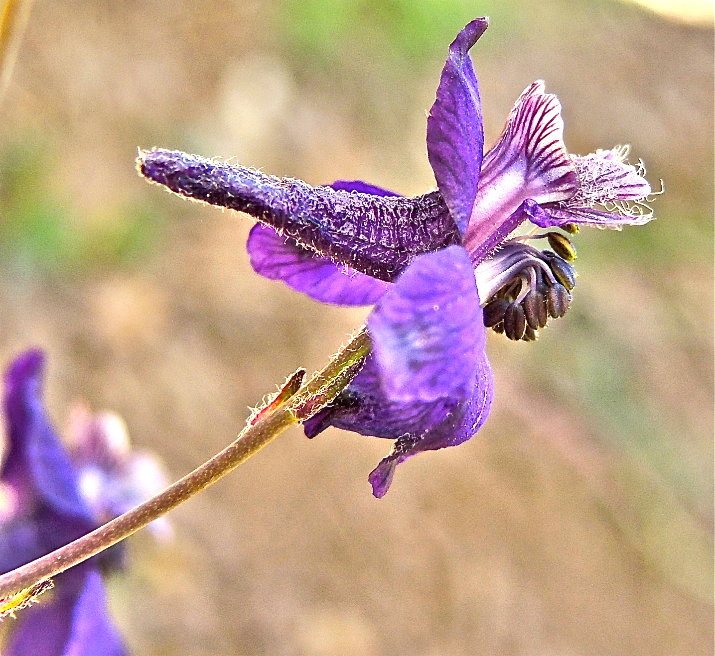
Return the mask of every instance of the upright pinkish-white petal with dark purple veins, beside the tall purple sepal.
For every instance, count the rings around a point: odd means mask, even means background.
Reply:
[[[576,167],[563,144],[561,104],[536,81],[519,96],[499,140],[484,156],[464,239],[473,262],[518,227],[516,209],[524,200],[557,202],[577,189]]]

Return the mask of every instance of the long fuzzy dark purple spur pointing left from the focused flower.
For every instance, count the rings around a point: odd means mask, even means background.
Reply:
[[[166,150],[142,153],[139,171],[184,197],[247,212],[285,237],[386,282],[418,254],[460,242],[439,192],[404,198],[336,191]]]

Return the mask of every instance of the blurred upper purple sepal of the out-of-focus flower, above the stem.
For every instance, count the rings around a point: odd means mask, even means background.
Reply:
[[[8,454],[0,477],[31,492],[54,510],[91,521],[79,496],[77,471],[49,422],[41,398],[44,354],[17,357],[5,374],[4,410]]]

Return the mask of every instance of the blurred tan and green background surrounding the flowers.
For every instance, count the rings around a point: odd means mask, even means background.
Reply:
[[[671,3],[677,5],[677,3]],[[253,274],[251,222],[171,197],[137,146],[403,194],[475,16],[487,141],[531,81],[571,151],[633,144],[659,220],[576,237],[573,309],[490,336],[467,444],[367,475],[389,442],[295,429],[146,535],[110,583],[142,656],[686,656],[712,640],[713,35],[615,0],[36,0],[0,107],[2,362],[50,354],[63,424],[120,412],[179,477],[368,309]],[[492,339],[493,338],[493,339]]]

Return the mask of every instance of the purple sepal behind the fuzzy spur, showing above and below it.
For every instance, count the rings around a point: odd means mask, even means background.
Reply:
[[[400,195],[361,180],[336,180],[330,187],[373,196]],[[282,280],[291,289],[322,303],[372,305],[390,287],[388,282],[333,262],[300,246],[295,239],[282,237],[270,226],[256,224],[246,249],[257,274],[270,280]]]

